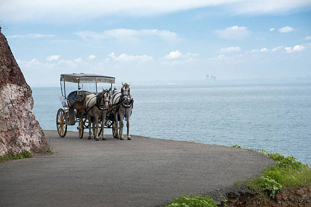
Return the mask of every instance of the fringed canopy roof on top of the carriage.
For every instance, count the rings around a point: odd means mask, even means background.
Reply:
[[[60,75],[60,81],[71,83],[114,83],[115,78],[97,74],[62,74]]]

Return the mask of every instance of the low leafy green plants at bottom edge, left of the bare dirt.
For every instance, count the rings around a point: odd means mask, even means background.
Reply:
[[[171,204],[166,204],[165,207],[217,207],[217,204],[219,203],[216,203],[210,196],[184,195],[173,199]]]

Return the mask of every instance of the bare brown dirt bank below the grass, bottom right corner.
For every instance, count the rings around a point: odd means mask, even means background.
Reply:
[[[311,206],[311,186],[285,189],[283,192],[275,195],[274,199],[266,195],[264,197],[259,195],[242,195],[240,197],[228,198],[228,205],[230,207],[246,207],[246,206],[272,206],[272,207],[310,207]]]

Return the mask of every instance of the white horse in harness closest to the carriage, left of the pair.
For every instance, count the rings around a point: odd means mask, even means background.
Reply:
[[[110,88],[111,89],[111,88]],[[86,118],[88,119],[88,124],[89,124],[89,132],[88,132],[88,140],[91,139],[91,117],[94,117],[94,121],[92,122],[93,124],[93,134],[94,134],[94,139],[96,141],[99,141],[98,137],[98,132],[99,132],[99,117],[102,115],[102,137],[103,140],[106,140],[105,135],[104,135],[104,122],[105,122],[105,117],[107,114],[107,110],[109,107],[109,99],[110,99],[110,93],[109,90],[104,90],[98,95],[89,94],[85,97],[84,100],[84,106],[86,110]],[[95,126],[96,125],[96,126]]]

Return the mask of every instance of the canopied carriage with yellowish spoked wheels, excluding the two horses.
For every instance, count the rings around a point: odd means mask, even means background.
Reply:
[[[77,83],[78,90],[70,92],[68,95],[66,94],[66,82]],[[64,83],[64,93],[63,86]],[[84,91],[80,84],[83,83],[95,83],[96,92]],[[77,129],[79,130],[79,137],[82,139],[84,128],[89,127],[88,119],[86,118],[86,113],[84,110],[84,99],[87,95],[99,94],[97,90],[97,83],[110,83],[110,97],[116,91],[112,90],[112,84],[115,83],[114,77],[97,75],[97,74],[62,74],[60,75],[60,90],[61,96],[59,97],[59,101],[61,105],[63,105],[63,109],[60,108],[57,111],[56,115],[56,128],[60,137],[65,137],[67,133],[67,125],[75,125],[78,123]],[[110,101],[110,100],[109,100]],[[119,105],[121,105],[120,103]],[[118,106],[119,106],[118,105]],[[113,137],[116,137],[116,121],[114,120],[113,109],[118,106],[114,106],[107,110],[106,117],[99,118],[99,134],[102,133],[102,124],[104,124],[104,128],[112,128]],[[94,130],[94,128],[93,128]]]

